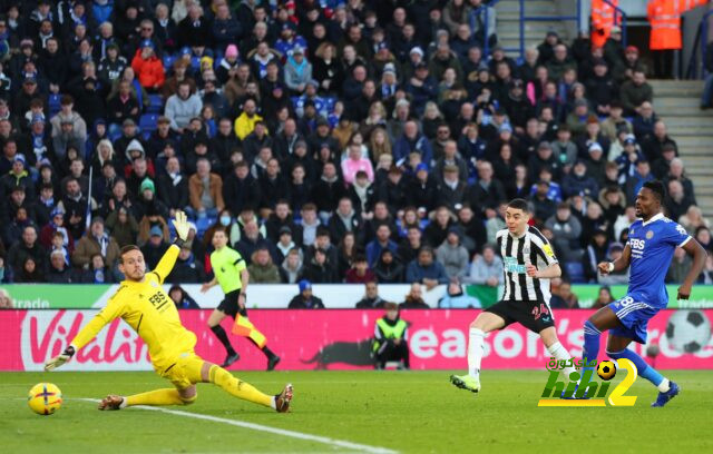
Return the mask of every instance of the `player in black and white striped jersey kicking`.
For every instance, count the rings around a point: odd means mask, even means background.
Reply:
[[[502,256],[505,292],[502,299],[478,315],[470,324],[468,342],[468,374],[451,375],[459,388],[480,391],[480,362],[487,333],[519,323],[539,334],[549,354],[569,361],[569,353],[557,339],[555,319],[549,308],[549,279],[559,277],[561,269],[551,245],[535,227],[528,225],[527,201],[515,199],[505,211],[506,229],[498,231],[497,241]],[[574,367],[564,369],[568,377]]]

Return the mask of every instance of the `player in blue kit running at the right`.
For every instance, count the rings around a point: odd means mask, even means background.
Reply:
[[[691,287],[705,264],[705,249],[691,238],[686,230],[662,213],[665,197],[661,181],[645,182],[636,196],[636,217],[628,230],[624,254],[615,261],[598,265],[606,275],[621,272],[631,265],[628,293],[606,307],[600,308],[584,324],[584,352],[586,361],[596,359],[599,353],[599,336],[609,330],[606,354],[611,358],[631,359],[638,375],[653,383],[660,391],[654,407],[666,405],[681,388],[626,346],[632,342],[646,343],[646,324],[668,304],[664,278],[676,247],[693,256],[693,265],[678,287],[678,299],[688,299]]]

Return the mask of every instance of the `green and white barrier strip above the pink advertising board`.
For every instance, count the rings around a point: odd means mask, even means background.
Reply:
[[[164,286],[166,290],[170,285]],[[495,304],[502,288],[485,285],[463,286],[468,295],[476,297],[481,307]],[[0,286],[12,299],[12,306],[18,309],[90,309],[101,308],[109,297],[119,288],[115,285],[52,285],[52,284],[12,284]],[[217,307],[223,299],[219,287],[213,287],[205,294],[201,293],[199,284],[185,284],[182,288],[193,297],[202,308]],[[408,284],[383,284],[379,286],[382,299],[401,303],[409,293]],[[668,295],[676,295],[677,286],[668,285]],[[625,285],[611,287],[614,298],[626,295]],[[423,300],[430,307],[438,307],[438,300],[446,295],[446,286],[440,285],[431,290],[422,287]],[[284,309],[290,299],[299,293],[297,285],[289,284],[252,284],[247,287],[247,307],[260,309]],[[590,307],[599,292],[598,285],[573,285],[572,292],[579,298],[580,307]],[[313,293],[320,297],[328,309],[353,308],[364,296],[361,284],[315,284]],[[713,285],[696,285],[691,299],[687,302],[668,303],[670,308],[713,308]]]

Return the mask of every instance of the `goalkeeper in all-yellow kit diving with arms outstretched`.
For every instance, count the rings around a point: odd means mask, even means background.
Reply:
[[[68,362],[105,325],[120,317],[148,346],[156,373],[169,379],[175,387],[131,396],[109,395],[101,401],[99,409],[120,409],[133,405],[192,404],[197,397],[196,383],[213,383],[235,397],[272,407],[280,413],[286,412],[292,399],[292,385],[286,385],[277,395],[267,395],[194,353],[196,335],[180,324],[176,306],[162,287],[174,267],[180,245],[188,236],[185,213],[177,211],[173,223],[177,238],[156,269],[146,273],[144,255],[138,247],[131,245],[121,249],[119,269],[126,279],[109,298],[106,307],[77,334],[62,354],[45,365],[45,369],[52,371]]]

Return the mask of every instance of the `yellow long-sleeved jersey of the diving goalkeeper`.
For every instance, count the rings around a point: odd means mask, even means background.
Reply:
[[[146,343],[159,373],[175,364],[182,353],[193,353],[196,335],[180,324],[176,305],[162,287],[178,251],[176,245],[168,247],[156,269],[146,273],[144,282],[121,282],[106,307],[77,334],[71,345],[76,349],[84,347],[105,325],[120,317]]]

